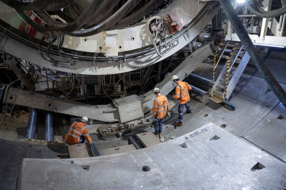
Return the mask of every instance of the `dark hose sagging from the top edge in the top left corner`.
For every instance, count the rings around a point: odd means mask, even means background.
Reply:
[[[14,9],[31,11],[31,10],[42,9],[48,3],[51,3],[54,0],[34,0],[34,1],[1,0],[1,1]]]

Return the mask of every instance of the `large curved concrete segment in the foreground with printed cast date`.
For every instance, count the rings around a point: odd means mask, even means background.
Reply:
[[[285,182],[285,163],[209,123],[126,153],[24,159],[18,189],[285,189]]]

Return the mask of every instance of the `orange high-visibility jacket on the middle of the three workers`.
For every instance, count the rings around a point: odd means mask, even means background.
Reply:
[[[157,119],[162,119],[166,116],[167,110],[169,110],[169,108],[170,107],[167,97],[164,95],[157,96],[153,105],[153,118],[155,117],[156,112],[158,112]]]

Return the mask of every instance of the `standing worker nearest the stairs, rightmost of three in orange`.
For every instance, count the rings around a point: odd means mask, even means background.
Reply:
[[[173,95],[175,99],[179,99],[179,106],[178,106],[178,112],[179,112],[179,119],[178,122],[175,123],[175,126],[182,126],[183,124],[183,111],[184,106],[187,108],[187,112],[192,113],[193,108],[189,105],[190,101],[190,95],[189,90],[192,89],[192,87],[187,83],[180,81],[179,77],[177,75],[172,76],[171,79],[174,83],[176,83],[176,92]]]

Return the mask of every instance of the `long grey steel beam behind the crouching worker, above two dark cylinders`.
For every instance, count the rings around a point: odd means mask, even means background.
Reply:
[[[90,105],[15,88],[6,90],[3,102],[106,122],[118,121],[116,108],[111,104]]]

